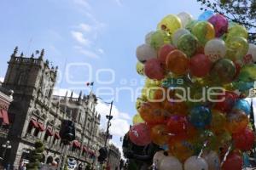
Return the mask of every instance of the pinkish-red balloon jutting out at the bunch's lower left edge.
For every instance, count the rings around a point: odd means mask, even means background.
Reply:
[[[150,129],[146,123],[139,123],[131,127],[129,137],[133,144],[145,146],[151,143]]]

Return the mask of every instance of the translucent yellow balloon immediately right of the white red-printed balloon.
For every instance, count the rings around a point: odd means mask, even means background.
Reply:
[[[243,37],[230,37],[226,41],[227,54],[226,58],[233,61],[241,60],[247,54],[248,42]]]

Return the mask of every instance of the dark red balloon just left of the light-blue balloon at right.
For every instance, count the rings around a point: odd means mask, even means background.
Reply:
[[[238,97],[239,96],[234,92],[225,91],[224,95],[218,95],[217,99],[219,99],[220,102],[216,103],[215,109],[226,113],[231,111]]]

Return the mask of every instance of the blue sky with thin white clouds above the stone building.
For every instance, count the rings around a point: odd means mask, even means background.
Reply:
[[[166,14],[185,11],[197,18],[201,14],[199,8],[196,0],[2,0],[0,77],[5,75],[15,46],[27,56],[45,48],[45,59],[58,65],[60,72],[66,71],[65,63],[84,64],[71,66],[68,71],[69,79],[79,84],[63,79],[57,83],[58,88],[75,88],[79,93],[85,82],[94,81],[95,92],[99,88],[113,88],[115,94],[117,89],[124,87],[135,90],[142,86],[143,77],[138,76],[135,69],[135,52],[144,36],[155,30]],[[112,78],[113,82],[99,83],[97,74],[102,82]],[[116,118],[112,133],[115,134],[114,143],[120,145],[119,136],[125,130],[114,131],[116,127],[125,126],[126,129],[136,110],[131,93],[123,90],[116,95],[119,99],[114,102]],[[111,96],[101,97],[108,100]],[[108,106],[103,104],[98,109],[102,114],[108,112]]]

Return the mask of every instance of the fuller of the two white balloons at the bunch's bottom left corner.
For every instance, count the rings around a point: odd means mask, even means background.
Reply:
[[[183,170],[183,165],[174,156],[166,156],[161,162],[159,170]]]

